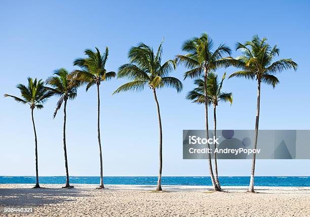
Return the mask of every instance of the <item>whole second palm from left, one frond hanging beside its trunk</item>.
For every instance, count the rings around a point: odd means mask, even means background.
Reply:
[[[47,79],[46,83],[51,85],[53,88],[49,88],[50,91],[59,96],[59,100],[56,105],[56,110],[54,112],[53,118],[55,118],[58,110],[60,109],[62,103],[63,106],[63,150],[65,158],[65,168],[66,168],[66,185],[64,188],[73,188],[69,184],[69,171],[68,171],[68,161],[67,161],[67,148],[66,148],[66,106],[67,100],[73,100],[76,97],[76,89],[78,89],[80,82],[77,80],[72,80],[69,78],[69,73],[66,69],[60,68],[54,71],[54,75]]]

